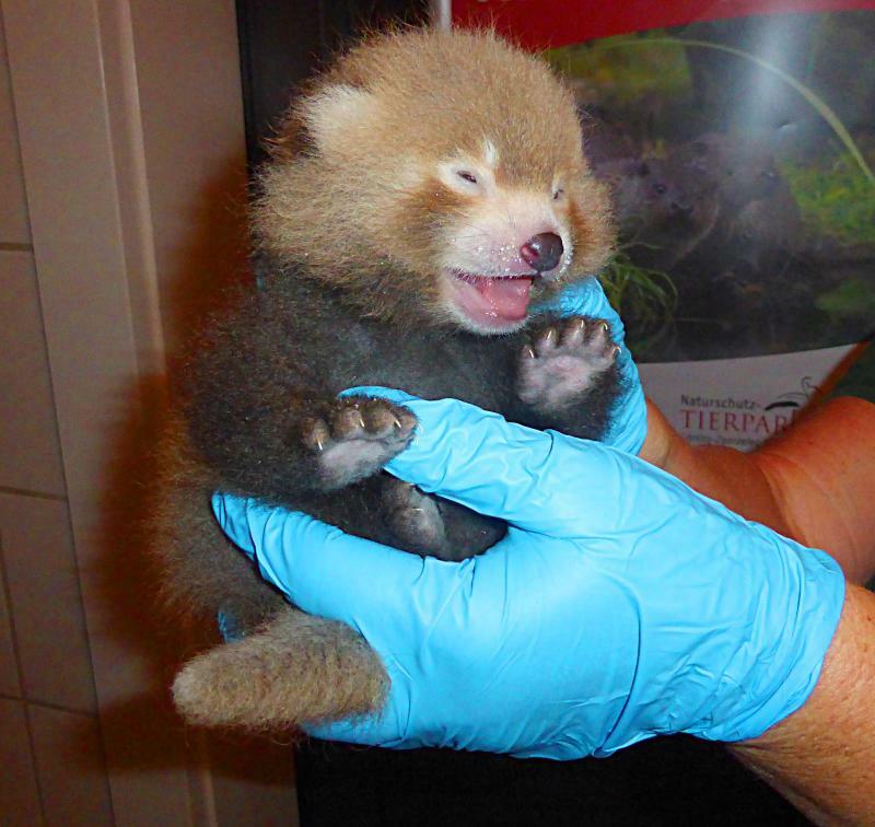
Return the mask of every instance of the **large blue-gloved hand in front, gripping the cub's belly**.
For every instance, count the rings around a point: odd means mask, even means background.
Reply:
[[[755,737],[808,697],[844,593],[826,554],[617,450],[383,394],[421,424],[387,470],[510,528],[447,563],[213,498],[265,578],[386,666],[380,714],[314,734],[578,758],[656,734]]]

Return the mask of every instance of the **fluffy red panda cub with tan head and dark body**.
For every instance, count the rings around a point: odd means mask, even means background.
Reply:
[[[178,708],[277,730],[377,710],[387,678],[352,629],[257,576],[210,493],[462,559],[504,524],[382,473],[413,416],[338,394],[456,397],[598,439],[620,381],[606,322],[534,311],[603,266],[608,201],[571,93],[491,32],[378,35],[341,57],[292,106],[253,224],[258,288],[211,323],[180,376],[156,545],[171,597],[235,626],[183,668]]]

